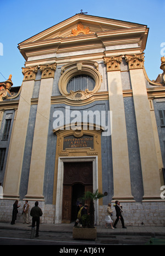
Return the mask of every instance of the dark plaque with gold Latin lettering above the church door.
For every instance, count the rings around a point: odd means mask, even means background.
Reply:
[[[81,138],[76,138],[74,135],[64,137],[63,150],[65,149],[94,149],[94,136],[83,135]]]

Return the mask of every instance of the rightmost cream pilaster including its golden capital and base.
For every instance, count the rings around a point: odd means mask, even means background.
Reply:
[[[150,105],[147,97],[143,72],[144,54],[126,55],[129,64],[131,86],[133,90],[136,125],[138,129],[139,149],[141,158],[144,200],[160,198],[160,173],[157,161],[155,137],[153,133]]]

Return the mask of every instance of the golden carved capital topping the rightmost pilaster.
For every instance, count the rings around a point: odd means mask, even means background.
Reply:
[[[125,55],[125,60],[129,65],[129,69],[144,67],[144,52],[137,55]]]

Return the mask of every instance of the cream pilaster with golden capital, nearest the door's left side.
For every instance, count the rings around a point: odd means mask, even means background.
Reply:
[[[29,183],[26,198],[44,200],[43,181],[45,173],[48,126],[50,124],[51,95],[56,63],[40,67],[42,71],[40,94],[32,144]],[[53,126],[52,126],[53,129]]]

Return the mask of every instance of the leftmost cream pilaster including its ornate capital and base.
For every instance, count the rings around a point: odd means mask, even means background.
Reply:
[[[21,86],[21,94],[13,127],[12,140],[10,142],[10,150],[7,159],[7,167],[5,170],[3,198],[18,199],[21,168],[24,156],[24,147],[26,141],[27,124],[29,121],[29,112],[31,106],[31,97],[34,89],[34,79],[37,73],[37,66],[28,69],[23,68],[24,80]],[[33,74],[32,77],[30,74]]]

